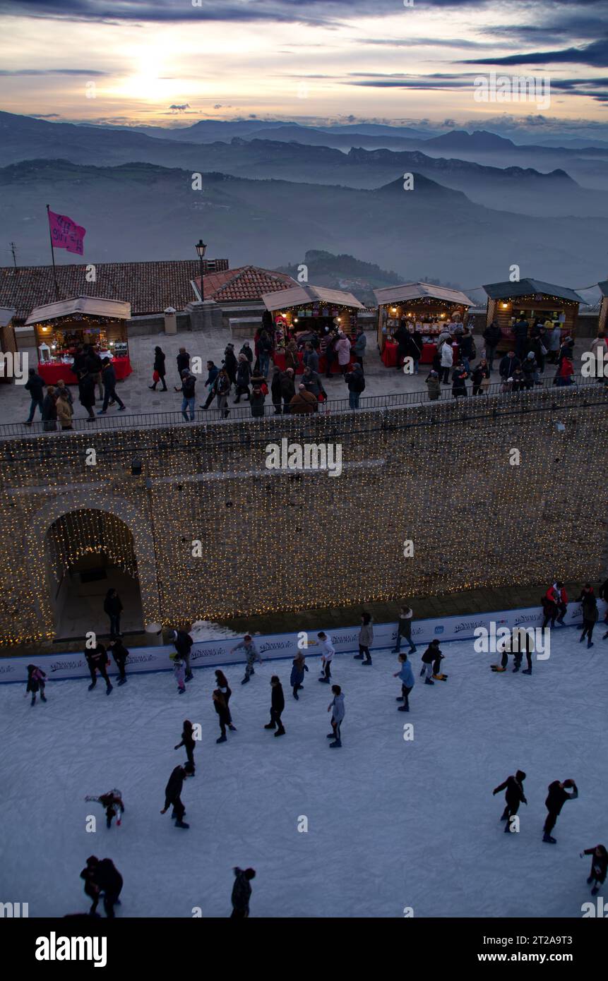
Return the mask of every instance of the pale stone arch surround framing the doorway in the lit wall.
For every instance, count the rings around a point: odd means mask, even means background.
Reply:
[[[96,488],[74,490],[59,494],[40,508],[33,516],[26,536],[29,576],[36,597],[36,612],[41,633],[49,640],[56,637],[57,599],[52,595],[52,583],[53,579],[56,581],[56,576],[49,577],[49,571],[52,571],[49,570],[52,556],[49,551],[49,532],[57,522],[62,519],[65,522],[67,516],[83,511],[106,514],[115,524],[118,522],[126,527],[133,542],[143,623],[153,622],[159,617],[156,559],[147,515],[142,515],[133,504],[111,493],[99,492]],[[99,545],[99,542],[91,541],[92,554],[95,550],[99,554],[103,553],[103,548]],[[121,558],[117,555],[113,557],[119,560]]]

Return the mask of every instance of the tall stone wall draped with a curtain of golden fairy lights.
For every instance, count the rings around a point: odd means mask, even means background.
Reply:
[[[607,406],[604,387],[554,388],[330,416],[72,433],[52,443],[7,440],[0,641],[51,640],[49,582],[88,553],[105,552],[119,566],[137,559],[144,621],[163,626],[449,594],[514,578],[597,578]],[[284,437],[341,443],[342,475],[266,470],[267,443]],[[90,447],[96,467],[85,463]],[[519,466],[509,464],[513,447]],[[142,466],[134,476],[135,457]],[[42,520],[53,501],[55,517]],[[403,555],[406,539],[415,543],[412,558]]]

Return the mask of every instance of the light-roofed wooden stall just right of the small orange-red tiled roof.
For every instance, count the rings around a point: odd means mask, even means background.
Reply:
[[[337,327],[353,339],[359,311],[365,309],[353,293],[309,284],[262,293],[262,300],[273,320],[277,338],[273,360],[279,368],[285,367],[282,347],[288,337],[302,342],[306,336],[321,337],[326,329]],[[323,357],[319,360],[319,370],[325,370]],[[339,371],[337,362],[331,370]]]

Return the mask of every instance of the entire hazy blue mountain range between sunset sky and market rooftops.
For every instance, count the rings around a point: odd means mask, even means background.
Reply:
[[[465,289],[507,279],[515,263],[575,287],[605,279],[608,195],[581,172],[608,184],[608,147],[392,134],[404,129],[244,121],[144,132],[0,113],[5,243],[22,264],[48,262],[49,203],[86,228],[88,262],[183,258],[202,235],[233,267],[298,265],[315,250]]]

